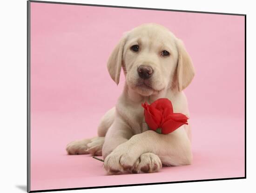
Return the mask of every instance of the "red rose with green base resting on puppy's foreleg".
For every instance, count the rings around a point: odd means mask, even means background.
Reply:
[[[158,99],[151,105],[147,102],[141,105],[144,107],[146,123],[157,133],[168,134],[184,124],[188,125],[189,118],[182,113],[173,113],[172,103],[168,99]]]

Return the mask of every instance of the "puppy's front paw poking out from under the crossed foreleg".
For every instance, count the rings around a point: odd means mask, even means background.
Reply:
[[[132,173],[153,173],[159,172],[162,168],[160,158],[154,153],[143,153],[135,162]]]

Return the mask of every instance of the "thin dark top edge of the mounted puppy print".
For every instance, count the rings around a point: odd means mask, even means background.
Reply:
[[[126,9],[145,9],[145,10],[173,11],[173,12],[187,12],[187,13],[207,13],[207,14],[237,15],[237,16],[245,16],[245,15],[246,15],[246,14],[240,14],[240,13],[202,12],[202,11],[188,11],[188,10],[174,10],[174,9],[148,8],[148,7],[125,7],[125,6],[98,5],[98,4],[85,4],[85,3],[67,3],[67,2],[58,2],[58,1],[30,0],[30,2],[33,2],[33,3],[52,3],[52,4],[63,4],[63,5],[77,5],[77,6],[93,6],[93,7],[112,7],[112,8],[126,8]]]

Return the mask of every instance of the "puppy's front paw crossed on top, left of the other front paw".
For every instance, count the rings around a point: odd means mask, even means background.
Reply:
[[[136,155],[131,155],[132,153],[129,152],[129,148],[121,144],[106,157],[104,168],[108,174],[131,173],[132,167],[138,159],[135,157]]]

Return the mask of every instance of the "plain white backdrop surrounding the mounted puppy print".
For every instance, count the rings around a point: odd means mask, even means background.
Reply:
[[[57,0],[74,3],[154,7],[192,11],[247,14],[247,179],[179,183],[152,186],[132,186],[104,189],[65,191],[120,193],[143,192],[197,192],[240,193],[253,187],[256,180],[255,124],[256,108],[254,83],[256,72],[255,42],[256,12],[249,0]],[[5,0],[0,5],[0,175],[1,192],[24,193],[27,175],[27,2]],[[232,133],[230,133],[232,137]]]

